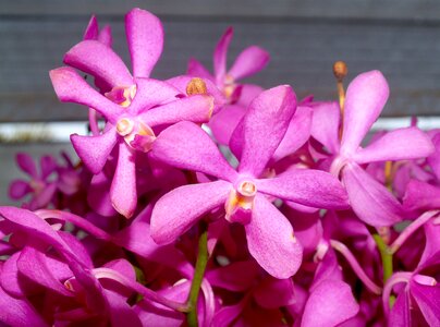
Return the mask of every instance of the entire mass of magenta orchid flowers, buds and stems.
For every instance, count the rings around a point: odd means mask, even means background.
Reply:
[[[17,155],[2,325],[440,326],[440,133],[367,137],[379,71],[345,92],[339,62],[339,101],[300,100],[242,82],[269,61],[257,46],[227,69],[228,28],[213,74],[191,59],[159,81],[158,17],[133,9],[125,31],[131,70],[93,16],[50,72],[90,133],[71,135],[77,165]]]

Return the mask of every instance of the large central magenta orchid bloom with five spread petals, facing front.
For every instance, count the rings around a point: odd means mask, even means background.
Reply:
[[[297,169],[262,178],[295,109],[295,95],[288,86],[271,88],[254,99],[231,140],[235,153],[241,153],[237,171],[197,125],[182,122],[162,132],[154,157],[219,180],[181,186],[159,199],[151,216],[154,240],[173,242],[204,214],[223,204],[225,218],[244,225],[249,252],[261,267],[276,278],[294,275],[301,265],[302,246],[288,219],[267,196],[313,207],[347,207],[342,185],[323,171]]]

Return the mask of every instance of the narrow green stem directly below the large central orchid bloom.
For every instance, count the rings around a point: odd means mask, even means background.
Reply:
[[[200,223],[200,238],[198,239],[198,254],[196,270],[194,271],[193,282],[191,283],[188,307],[190,312],[186,320],[190,327],[197,327],[197,300],[200,292],[201,281],[204,279],[206,264],[208,263],[208,229],[205,223]]]

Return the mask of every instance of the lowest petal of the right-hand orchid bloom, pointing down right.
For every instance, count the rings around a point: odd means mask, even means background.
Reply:
[[[342,170],[342,182],[349,193],[353,210],[364,222],[391,226],[403,219],[402,205],[381,183],[374,180],[356,164]]]

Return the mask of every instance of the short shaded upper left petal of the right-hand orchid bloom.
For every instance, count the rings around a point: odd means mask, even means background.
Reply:
[[[338,134],[341,113],[339,104],[317,102],[311,108],[314,110],[311,136],[331,154],[337,154],[340,147]]]

